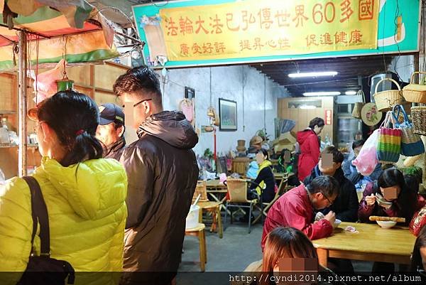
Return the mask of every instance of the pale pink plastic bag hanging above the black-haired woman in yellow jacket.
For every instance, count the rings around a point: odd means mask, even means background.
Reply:
[[[34,80],[34,90],[37,90],[36,102],[42,102],[48,97],[52,97],[58,90],[56,80],[60,80],[64,73],[64,59],[55,66],[55,68],[46,72],[39,73],[37,80]],[[37,82],[37,85],[35,85]],[[37,87],[37,88],[36,88]]]

